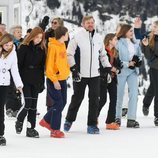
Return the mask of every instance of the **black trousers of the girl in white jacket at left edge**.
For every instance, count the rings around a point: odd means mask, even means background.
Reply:
[[[0,136],[4,135],[4,105],[6,103],[8,86],[0,86]]]

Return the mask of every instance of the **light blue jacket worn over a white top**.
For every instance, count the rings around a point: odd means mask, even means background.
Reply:
[[[140,47],[140,42],[135,40],[134,41],[134,47],[135,47],[135,55],[139,57],[139,59],[142,59],[142,52],[141,52],[141,47]],[[132,73],[133,71],[136,71],[137,74],[139,74],[139,68],[135,69],[129,69],[128,64],[130,61],[129,57],[129,50],[128,50],[128,44],[126,38],[120,38],[116,49],[118,50],[119,58],[123,62],[123,68],[121,70],[121,73],[119,75],[127,75],[129,73]]]

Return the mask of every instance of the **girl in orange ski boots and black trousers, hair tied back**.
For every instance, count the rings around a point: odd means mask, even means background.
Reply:
[[[118,59],[117,51],[115,46],[117,44],[117,37],[115,34],[107,34],[104,39],[105,49],[107,51],[107,55],[109,58],[109,62],[112,65],[111,69],[111,82],[108,83],[107,75],[108,72],[105,72],[100,76],[100,100],[99,100],[99,108],[98,108],[98,116],[102,107],[105,105],[107,101],[107,91],[109,92],[110,103],[108,116],[106,119],[106,129],[119,129],[119,125],[115,123],[115,114],[116,114],[116,99],[117,99],[117,73],[120,71],[120,62]],[[106,75],[105,75],[106,74]],[[105,76],[104,76],[105,75]]]

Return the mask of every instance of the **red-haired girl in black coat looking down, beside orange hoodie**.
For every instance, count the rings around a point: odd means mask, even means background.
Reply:
[[[27,137],[38,138],[35,130],[38,93],[44,87],[45,45],[44,33],[35,27],[18,50],[19,71],[24,83],[25,106],[17,114],[16,133],[20,134],[27,116]]]

